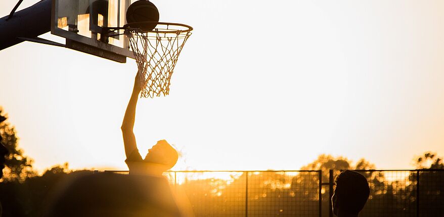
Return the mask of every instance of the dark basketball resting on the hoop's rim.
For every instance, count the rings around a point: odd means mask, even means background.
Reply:
[[[147,0],[139,0],[128,7],[126,21],[128,23],[159,22],[159,11],[153,3]],[[156,27],[156,24],[135,27],[140,27],[143,31],[151,31]]]

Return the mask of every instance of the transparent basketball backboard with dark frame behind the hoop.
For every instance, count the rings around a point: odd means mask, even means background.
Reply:
[[[104,27],[126,24],[130,0],[52,0],[51,33],[66,38],[66,47],[125,63],[133,58],[123,30],[112,37],[101,35]]]

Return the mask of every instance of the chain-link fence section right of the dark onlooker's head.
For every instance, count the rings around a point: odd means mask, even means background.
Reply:
[[[360,216],[444,217],[444,170],[357,172],[371,192]]]

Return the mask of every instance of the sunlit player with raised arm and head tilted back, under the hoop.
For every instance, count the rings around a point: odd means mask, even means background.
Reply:
[[[126,154],[125,162],[128,165],[130,175],[162,176],[163,172],[171,169],[176,164],[179,155],[166,140],[159,140],[156,145],[149,149],[145,159],[142,159],[137,149],[133,128],[136,118],[136,104],[141,91],[140,76],[139,73],[136,75],[134,88],[121,127]]]

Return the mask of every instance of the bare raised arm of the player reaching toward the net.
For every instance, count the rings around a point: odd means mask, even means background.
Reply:
[[[139,75],[137,74],[134,81],[134,88],[132,88],[131,98],[129,98],[128,105],[126,106],[125,117],[123,117],[121,127],[126,157],[129,157],[132,151],[137,149],[136,137],[134,136],[134,132],[132,131],[132,129],[134,128],[134,120],[136,118],[136,104],[140,89],[140,79]]]

